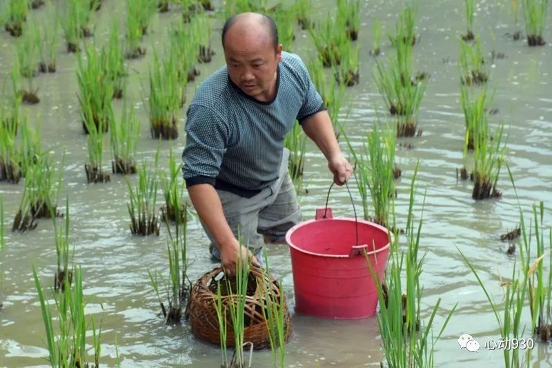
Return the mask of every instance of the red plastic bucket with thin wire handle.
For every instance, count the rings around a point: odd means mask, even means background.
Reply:
[[[377,286],[364,249],[382,280],[393,234],[369,221],[333,218],[329,207],[317,209],[316,214],[314,220],[295,225],[286,234],[295,310],[323,318],[373,316]]]

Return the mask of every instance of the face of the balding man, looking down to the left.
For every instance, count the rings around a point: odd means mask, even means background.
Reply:
[[[228,31],[224,56],[230,79],[249,96],[259,101],[273,98],[276,70],[282,59],[282,45],[274,50],[266,38]]]

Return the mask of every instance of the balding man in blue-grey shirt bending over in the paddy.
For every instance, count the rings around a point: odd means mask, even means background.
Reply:
[[[304,63],[282,52],[272,19],[231,17],[222,46],[226,66],[201,83],[188,108],[182,171],[211,254],[231,275],[238,256],[259,264],[263,236],[282,242],[301,221],[284,150],[295,119],[328,160],[335,183],[351,177],[351,165]]]

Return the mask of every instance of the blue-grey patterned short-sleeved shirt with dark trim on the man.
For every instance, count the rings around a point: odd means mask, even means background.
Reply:
[[[276,90],[272,101],[257,101],[230,80],[226,66],[199,85],[186,113],[188,187],[210,183],[249,196],[278,178],[284,137],[295,120],[325,108],[296,54],[282,52]]]

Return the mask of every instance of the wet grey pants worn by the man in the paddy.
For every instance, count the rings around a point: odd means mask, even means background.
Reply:
[[[246,245],[260,263],[264,264],[262,249],[264,237],[271,243],[283,243],[290,227],[301,221],[301,209],[295,187],[288,173],[289,151],[284,150],[277,180],[251,198],[244,198],[224,190],[217,190],[230,229]],[[204,223],[201,223],[211,241],[213,260],[220,261],[219,248]]]

